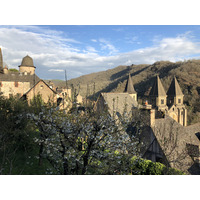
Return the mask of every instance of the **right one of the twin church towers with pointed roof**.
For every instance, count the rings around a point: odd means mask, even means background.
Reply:
[[[174,76],[167,91],[167,104],[169,106],[169,116],[183,126],[187,126],[187,109],[183,104],[183,93]]]

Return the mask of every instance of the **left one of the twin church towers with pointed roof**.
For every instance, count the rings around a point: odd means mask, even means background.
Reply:
[[[167,112],[167,95],[158,75],[149,93],[149,98],[152,108]]]

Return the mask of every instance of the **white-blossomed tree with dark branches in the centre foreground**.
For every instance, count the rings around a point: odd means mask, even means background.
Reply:
[[[136,155],[138,140],[108,113],[63,114],[43,109],[30,117],[40,131],[40,137],[35,138],[40,145],[40,161],[45,158],[54,168],[50,173],[114,174],[127,161],[125,157]]]

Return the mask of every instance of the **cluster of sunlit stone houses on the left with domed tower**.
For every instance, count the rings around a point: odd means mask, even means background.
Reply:
[[[45,103],[54,103],[60,109],[65,109],[67,105],[71,106],[71,89],[58,88],[52,82],[43,81],[35,74],[35,69],[33,59],[27,55],[22,59],[19,71],[9,70],[7,66],[3,66],[3,56],[0,48],[1,95],[5,98],[16,96],[28,102],[35,96],[40,95]],[[82,97],[79,94],[77,100],[82,103]]]

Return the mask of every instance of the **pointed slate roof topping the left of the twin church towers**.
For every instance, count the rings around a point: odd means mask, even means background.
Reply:
[[[166,92],[160,81],[159,76],[156,76],[156,80],[153,84],[153,87],[151,88],[149,96],[166,96]]]

